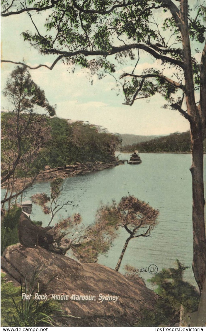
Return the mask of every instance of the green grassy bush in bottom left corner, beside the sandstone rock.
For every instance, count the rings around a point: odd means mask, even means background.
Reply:
[[[59,316],[56,311],[62,311],[60,303],[50,299],[34,300],[37,276],[36,271],[30,283],[25,280],[24,285],[16,287],[1,274],[2,326],[56,326],[54,319]],[[22,299],[22,293],[32,294],[31,299]]]

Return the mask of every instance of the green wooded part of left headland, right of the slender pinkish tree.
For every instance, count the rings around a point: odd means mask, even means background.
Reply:
[[[51,139],[44,152],[45,164],[56,167],[87,161],[109,162],[114,159],[118,136],[100,132],[98,127],[83,122],[68,123],[65,119],[50,119]]]

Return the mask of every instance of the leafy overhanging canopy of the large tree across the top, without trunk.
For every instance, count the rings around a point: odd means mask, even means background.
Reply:
[[[136,62],[144,54],[140,50],[149,53],[154,60],[161,60],[163,66],[159,70],[147,69],[139,75],[134,68],[131,73],[122,75],[126,104],[132,105],[137,98],[161,93],[189,120],[186,112],[181,110],[186,83],[183,82],[186,45],[184,42],[181,44],[182,19],[185,15],[188,37],[194,42],[191,64],[194,83],[198,87],[204,78],[199,73],[196,53],[202,51],[201,44],[205,41],[206,11],[203,4],[195,6],[194,2],[188,6],[188,12],[185,12],[186,7],[186,1],[171,0],[26,1],[25,4],[14,0],[12,6],[10,1],[3,0],[1,15],[28,13],[34,32],[27,30],[22,35],[42,54],[58,55],[50,69],[62,60],[67,64],[89,67],[93,72],[100,68],[114,72],[117,62],[121,63],[123,57]],[[31,15],[41,11],[47,11],[45,21],[43,17],[39,20]],[[161,19],[157,19],[156,13],[161,15]],[[164,74],[168,68],[170,76]],[[175,98],[178,89],[184,96],[178,94]]]

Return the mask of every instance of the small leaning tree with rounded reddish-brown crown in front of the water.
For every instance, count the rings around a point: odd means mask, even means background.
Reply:
[[[129,195],[122,197],[118,205],[113,201],[111,206],[103,206],[98,215],[98,224],[103,224],[105,229],[110,228],[117,232],[119,228],[124,228],[129,234],[115,267],[118,271],[129,241],[150,236],[157,225],[159,210]]]

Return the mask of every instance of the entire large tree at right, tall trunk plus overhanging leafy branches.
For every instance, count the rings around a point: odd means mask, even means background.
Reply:
[[[125,104],[131,106],[139,98],[149,98],[159,93],[167,100],[166,107],[177,110],[189,121],[192,143],[192,266],[201,291],[206,277],[203,190],[203,138],[206,134],[205,6],[200,3],[192,8],[187,0],[70,0],[66,4],[58,0],[24,3],[3,0],[2,6],[2,16],[26,12],[35,32],[23,32],[24,40],[37,47],[42,54],[57,55],[50,67],[40,64],[29,68],[45,66],[52,69],[62,60],[67,64],[91,68],[92,72],[101,68],[114,72],[116,63],[125,57],[129,63],[135,61],[132,72],[121,75]],[[46,32],[42,32],[42,35],[31,15],[41,11],[48,11]],[[162,20],[155,20],[156,12],[162,15]],[[200,63],[195,58],[199,46],[202,52]],[[137,56],[134,54],[136,50]],[[159,69],[154,65],[152,69],[135,73],[142,51],[161,61]],[[195,94],[199,98],[195,98]]]

